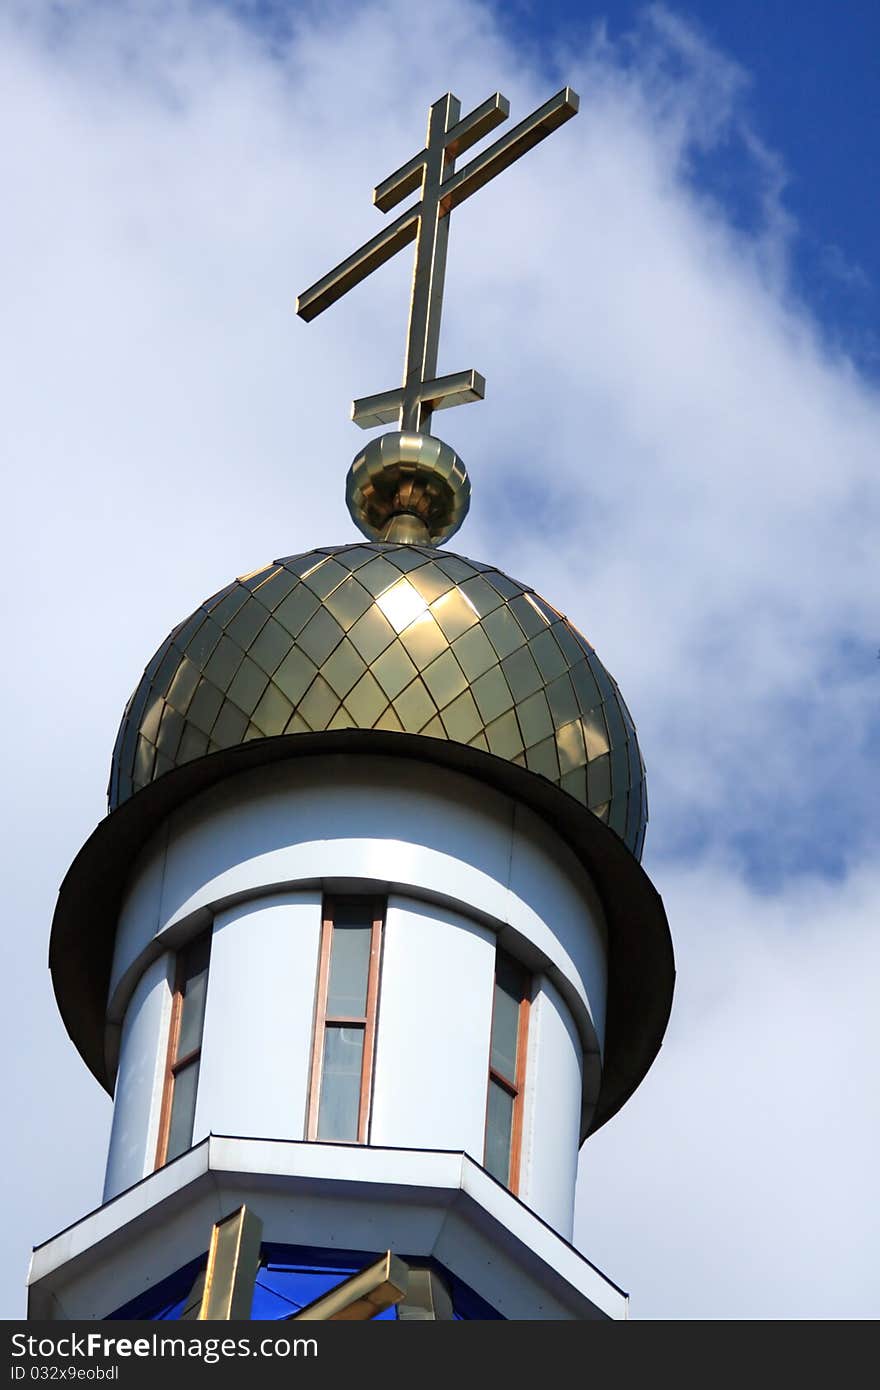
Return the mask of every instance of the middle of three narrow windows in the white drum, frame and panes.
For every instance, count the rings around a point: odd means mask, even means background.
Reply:
[[[324,903],[309,1138],[366,1144],[384,903]]]

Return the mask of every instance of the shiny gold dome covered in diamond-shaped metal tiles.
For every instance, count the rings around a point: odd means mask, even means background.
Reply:
[[[207,599],[128,702],[110,809],[222,749],[346,728],[460,744],[524,767],[641,856],[635,728],[589,642],[534,589],[420,545],[310,550]]]

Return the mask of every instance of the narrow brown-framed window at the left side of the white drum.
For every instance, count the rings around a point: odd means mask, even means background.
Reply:
[[[177,958],[168,1062],[156,1150],[157,1168],[170,1163],[192,1144],[210,954],[211,934],[209,931],[185,951],[181,951]]]

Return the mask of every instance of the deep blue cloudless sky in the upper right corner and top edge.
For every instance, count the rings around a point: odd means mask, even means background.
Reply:
[[[596,22],[613,40],[638,32],[646,7],[513,0],[503,8],[510,26],[549,56],[566,35]],[[780,161],[797,224],[794,285],[841,349],[876,375],[880,8],[872,0],[688,0],[670,8],[740,64],[752,132]],[[735,139],[696,160],[694,174],[728,215],[753,224],[752,181]]]

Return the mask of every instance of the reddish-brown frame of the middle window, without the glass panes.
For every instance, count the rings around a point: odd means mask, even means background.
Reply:
[[[328,1015],[327,995],[329,990],[329,955],[334,937],[334,923],[341,903],[364,903],[370,913],[370,960],[367,966],[367,997],[364,1015]],[[366,1144],[370,1131],[370,1111],[373,1101],[373,1069],[375,1059],[375,1029],[380,997],[380,967],[382,958],[382,941],[385,935],[385,912],[388,899],[374,894],[328,894],[321,906],[321,945],[318,954],[318,980],[314,1008],[314,1030],[311,1038],[311,1069],[309,1077],[309,1105],[306,1119],[306,1138],[316,1144]],[[324,1040],[328,1027],[363,1027],[364,1045],[360,1062],[360,1091],[357,1099],[357,1138],[355,1140],[323,1140],[318,1138],[318,1119],[321,1109],[321,1083],[324,1077]]]

